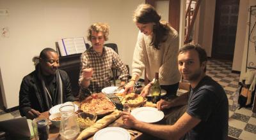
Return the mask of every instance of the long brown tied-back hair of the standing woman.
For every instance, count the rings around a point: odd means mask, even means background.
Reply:
[[[153,38],[151,45],[157,50],[159,49],[159,44],[166,41],[166,36],[170,31],[168,23],[161,20],[161,15],[157,13],[155,8],[150,4],[140,4],[138,8],[134,11],[133,21],[140,24],[148,24],[153,22]]]

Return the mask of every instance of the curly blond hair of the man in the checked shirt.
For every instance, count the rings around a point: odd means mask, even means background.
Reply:
[[[99,23],[99,22],[91,25],[90,28],[88,29],[88,36],[87,36],[88,41],[91,41],[92,39],[92,31],[103,32],[105,41],[108,40],[109,25],[104,23]]]

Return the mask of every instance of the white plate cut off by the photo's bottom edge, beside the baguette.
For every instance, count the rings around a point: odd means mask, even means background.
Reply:
[[[95,133],[93,140],[130,140],[131,136],[127,130],[121,127],[106,127]]]

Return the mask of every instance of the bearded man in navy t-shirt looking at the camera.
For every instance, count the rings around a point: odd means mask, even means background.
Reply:
[[[206,63],[206,52],[199,45],[188,44],[180,48],[179,71],[182,78],[189,81],[190,91],[170,102],[157,102],[158,109],[188,104],[188,109],[174,125],[140,122],[122,112],[124,125],[161,139],[227,139],[227,95],[220,84],[205,75]]]

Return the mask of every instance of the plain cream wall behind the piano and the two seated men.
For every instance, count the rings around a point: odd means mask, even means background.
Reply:
[[[0,37],[0,82],[5,108],[19,105],[22,78],[35,68],[32,57],[45,47],[55,48],[60,38],[86,37],[94,22],[110,26],[109,41],[116,43],[121,59],[131,67],[138,29],[132,12],[144,0],[0,0],[0,28],[8,27],[8,38]]]

